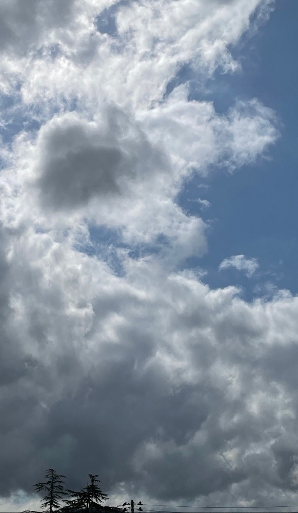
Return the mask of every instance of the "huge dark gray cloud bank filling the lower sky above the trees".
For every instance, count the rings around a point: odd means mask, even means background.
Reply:
[[[30,492],[53,466],[71,486],[97,471],[107,491],[125,482],[158,500],[223,503],[231,486],[251,500],[260,483],[290,494],[294,370],[277,360],[294,360],[296,300],[248,305],[153,263],[128,281],[67,248],[48,274],[50,238],[36,237],[44,276],[35,258],[32,274],[26,238],[7,274],[13,297],[22,292],[10,324],[22,326],[16,344],[25,338],[32,360],[9,396],[2,387],[1,493]]]

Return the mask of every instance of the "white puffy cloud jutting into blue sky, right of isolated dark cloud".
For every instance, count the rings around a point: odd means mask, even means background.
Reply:
[[[253,162],[278,136],[275,116],[257,100],[237,103],[218,116],[211,102],[188,101],[188,86],[139,114],[151,140],[160,141],[182,169],[205,176],[210,164],[229,172]]]

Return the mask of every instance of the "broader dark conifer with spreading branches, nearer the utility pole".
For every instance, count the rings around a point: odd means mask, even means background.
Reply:
[[[88,474],[88,476],[90,478],[90,484],[88,479],[87,486],[85,486],[85,488],[83,488],[81,491],[67,490],[69,496],[74,497],[74,499],[64,499],[64,502],[70,506],[70,510],[82,509],[83,511],[88,511],[91,505],[93,507],[98,503],[109,500],[107,494],[104,494],[100,487],[96,484],[100,483],[100,480],[96,479],[98,478],[98,475]]]

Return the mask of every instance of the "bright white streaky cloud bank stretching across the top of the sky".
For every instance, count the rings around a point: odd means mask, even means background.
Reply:
[[[13,3],[17,27],[20,2]],[[11,50],[9,61],[3,57],[6,88],[13,75],[22,82],[26,103],[42,103],[46,109],[49,101],[75,97],[94,111],[103,98],[134,108],[160,101],[167,83],[184,63],[203,68],[207,74],[217,66],[225,71],[237,68],[229,47],[249,30],[250,17],[261,7],[266,13],[271,2],[163,0],[156,4],[143,0],[98,5],[93,0],[64,0],[62,16],[57,15],[53,0],[47,9],[36,0],[32,4],[41,10],[38,14],[34,8],[30,11],[35,13],[28,29],[30,37],[34,33],[33,46],[27,38],[23,41],[22,48],[27,52],[30,48],[25,61]],[[116,38],[96,32],[94,24],[95,16],[112,5],[118,5]],[[3,19],[9,23],[7,13]]]

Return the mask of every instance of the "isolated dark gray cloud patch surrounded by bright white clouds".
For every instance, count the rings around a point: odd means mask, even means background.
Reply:
[[[68,210],[94,198],[129,193],[167,171],[166,157],[115,107],[101,122],[67,113],[42,127],[37,139],[37,179],[42,206]]]

